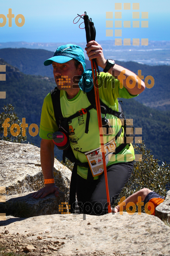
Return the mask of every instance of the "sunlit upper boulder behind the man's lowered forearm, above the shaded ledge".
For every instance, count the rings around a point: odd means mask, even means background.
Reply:
[[[55,184],[69,198],[71,171],[55,159]],[[40,148],[21,143],[0,141],[0,187],[6,195],[39,190],[44,186]],[[7,200],[7,198],[6,198]]]

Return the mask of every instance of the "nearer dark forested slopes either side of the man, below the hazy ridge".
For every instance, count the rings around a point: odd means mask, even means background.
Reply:
[[[3,112],[4,105],[12,104],[21,121],[25,117],[28,126],[32,123],[39,126],[43,99],[55,87],[54,78],[23,74],[3,60],[0,60],[0,65],[6,65],[6,81],[0,81],[0,90],[6,91],[6,99],[0,100],[0,112]],[[133,118],[135,127],[142,127],[142,135],[137,136],[142,136],[146,147],[152,150],[156,158],[170,163],[169,112],[145,107],[135,100],[123,99],[123,103],[126,117]],[[41,139],[38,135],[29,135],[28,141],[40,147]],[[62,152],[57,153],[58,158],[61,159],[61,156]]]

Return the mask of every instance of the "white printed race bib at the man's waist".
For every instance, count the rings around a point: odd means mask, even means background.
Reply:
[[[111,140],[104,145],[106,165],[108,164],[112,154],[114,154],[115,148],[115,140]],[[85,156],[89,163],[93,177],[100,175],[104,171],[101,147],[86,152]]]

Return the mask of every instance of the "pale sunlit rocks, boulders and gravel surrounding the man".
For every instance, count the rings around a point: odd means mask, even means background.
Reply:
[[[57,214],[61,202],[68,202],[71,171],[55,160],[55,182],[65,198],[49,195],[35,200],[30,194],[43,186],[40,149],[0,141],[0,150],[0,256],[170,255],[170,227],[160,220],[170,222],[170,191],[155,216]],[[11,209],[20,209],[18,215]]]

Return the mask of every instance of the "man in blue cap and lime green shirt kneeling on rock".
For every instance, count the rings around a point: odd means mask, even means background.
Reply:
[[[102,118],[112,121],[112,129],[109,134],[104,135],[104,143],[111,148],[111,142],[114,140],[116,148],[123,143],[124,127],[118,117],[113,113],[118,112],[117,98],[134,98],[144,91],[145,85],[141,79],[119,65],[114,60],[106,60],[103,55],[102,47],[96,41],[90,41],[85,48],[89,60],[96,59],[97,64],[103,68],[100,72],[100,82],[103,85],[99,88],[100,100],[109,109],[109,113],[102,113]],[[105,186],[105,176],[101,167],[95,169],[102,160],[98,159],[92,162],[94,173],[91,172],[86,158],[87,152],[98,154],[100,148],[100,133],[98,126],[97,111],[89,101],[91,91],[83,91],[82,83],[85,74],[91,76],[92,71],[85,70],[85,56],[83,49],[77,45],[67,44],[57,48],[54,56],[44,62],[45,66],[52,64],[56,92],[60,90],[58,101],[60,101],[61,115],[64,118],[74,116],[67,123],[69,126],[70,149],[75,158],[75,165],[72,176],[73,185],[70,188],[70,198],[75,198],[77,194],[80,212],[92,215],[103,215],[107,213],[107,195]],[[112,74],[114,76],[112,76]],[[77,84],[75,78],[80,77]],[[127,86],[128,77],[133,77],[133,86]],[[74,79],[73,79],[74,78]],[[128,78],[129,79],[129,78]],[[83,82],[81,82],[83,81]],[[128,83],[126,83],[128,81]],[[114,86],[113,86],[114,85]],[[133,87],[133,88],[132,88]],[[93,86],[92,86],[93,88]],[[88,88],[89,89],[89,88]],[[58,102],[57,101],[57,102]],[[105,109],[104,108],[104,109]],[[50,193],[55,196],[59,194],[59,188],[54,182],[54,143],[48,134],[54,134],[61,131],[62,125],[57,125],[51,94],[44,99],[39,135],[41,137],[41,167],[44,175],[45,187],[33,193],[34,198],[44,198]],[[68,132],[68,131],[66,131]],[[107,136],[109,135],[109,136]],[[109,144],[110,143],[110,144]],[[123,143],[124,144],[124,143]],[[63,150],[64,151],[64,150]],[[113,153],[113,152],[112,152]],[[98,156],[97,156],[98,157]],[[135,155],[131,143],[124,144],[119,153],[110,154],[107,161],[107,179],[110,201],[117,198],[122,188],[133,171]],[[90,161],[90,160],[89,160]],[[97,174],[96,174],[97,172]],[[75,202],[74,200],[70,202]],[[114,203],[114,202],[112,202]],[[82,207],[86,205],[86,207]],[[71,205],[72,207],[72,205]]]

